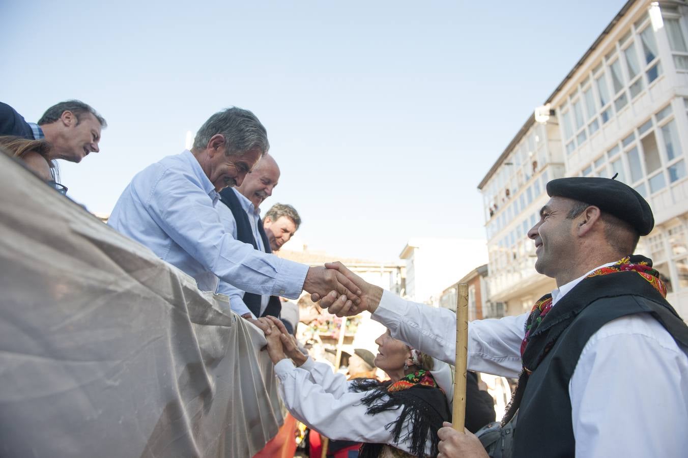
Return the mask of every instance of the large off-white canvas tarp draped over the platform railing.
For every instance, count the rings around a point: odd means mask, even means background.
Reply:
[[[0,456],[246,458],[277,433],[259,330],[3,154],[0,272]]]

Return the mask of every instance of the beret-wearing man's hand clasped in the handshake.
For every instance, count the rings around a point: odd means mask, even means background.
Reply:
[[[339,261],[336,263],[325,263],[325,267],[328,271],[336,272],[344,276],[347,281],[350,281],[352,285],[354,285],[354,289],[359,291],[361,300],[358,303],[352,303],[352,301],[348,301],[347,297],[343,294],[330,292],[326,296],[311,294],[313,302],[320,301],[321,308],[327,309],[327,312],[336,316],[354,316],[365,310],[370,313],[375,312],[380,303],[380,299],[383,297],[383,289],[381,287],[367,283],[367,281],[363,280],[360,276],[345,268]]]

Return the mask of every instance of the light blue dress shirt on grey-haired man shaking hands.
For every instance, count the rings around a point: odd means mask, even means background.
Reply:
[[[193,276],[200,290],[215,292],[222,279],[255,294],[299,297],[308,265],[236,240],[220,221],[218,200],[213,184],[186,150],[137,173],[108,224]]]

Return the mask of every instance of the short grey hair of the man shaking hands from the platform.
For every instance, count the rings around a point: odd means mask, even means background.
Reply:
[[[242,155],[257,149],[262,156],[270,149],[268,131],[248,110],[230,107],[215,113],[198,129],[193,149],[203,151],[218,133],[224,136],[227,155]]]

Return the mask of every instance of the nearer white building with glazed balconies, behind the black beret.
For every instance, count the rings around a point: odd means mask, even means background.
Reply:
[[[652,207],[651,257],[667,299],[688,314],[688,6],[627,3],[621,17],[547,100],[557,111],[567,176],[612,177]]]

